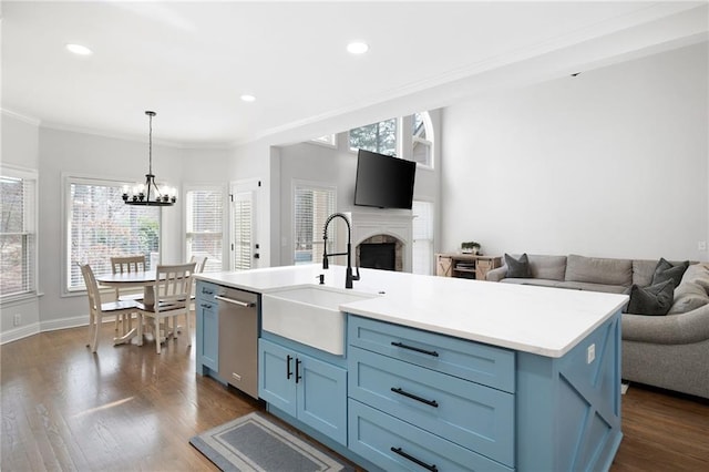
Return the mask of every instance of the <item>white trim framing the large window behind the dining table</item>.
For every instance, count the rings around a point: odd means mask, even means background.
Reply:
[[[86,294],[85,289],[69,289],[69,280],[66,278],[66,268],[69,267],[69,258],[70,258],[70,254],[69,254],[69,240],[68,240],[68,229],[69,229],[69,224],[70,224],[70,212],[69,212],[69,204],[71,201],[71,184],[94,184],[94,185],[115,185],[115,186],[123,186],[123,185],[134,185],[135,182],[127,182],[127,181],[122,181],[122,179],[115,179],[115,178],[105,178],[105,177],[100,177],[100,176],[95,176],[95,175],[86,175],[86,174],[74,174],[74,173],[62,173],[62,198],[61,198],[61,205],[62,205],[62,230],[61,230],[61,245],[62,245],[62,250],[61,250],[61,267],[60,267],[60,284],[61,284],[61,289],[60,289],[60,297],[64,298],[64,297],[79,297],[79,296],[84,296]],[[163,252],[163,238],[164,238],[164,234],[163,234],[163,212],[160,212],[160,246],[157,248],[158,253],[162,255]]]

